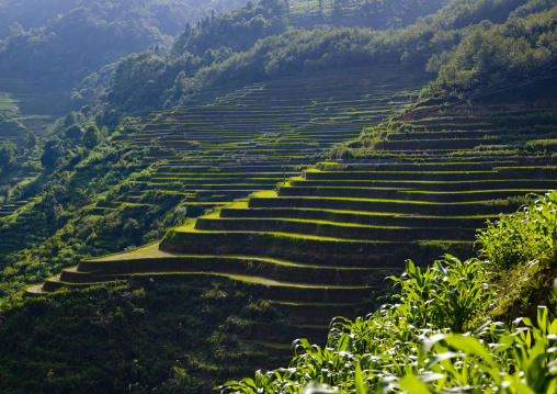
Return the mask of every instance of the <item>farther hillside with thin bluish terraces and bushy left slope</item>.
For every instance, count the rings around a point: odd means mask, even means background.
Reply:
[[[72,159],[83,162],[62,164],[52,176],[50,193],[7,217],[0,251],[5,261],[21,263],[4,272],[11,283],[4,285],[15,290],[46,279],[52,271],[37,263],[39,256],[61,270],[77,256],[139,246],[205,209],[298,175],[327,158],[333,144],[400,110],[425,81],[423,74],[401,80],[389,71],[374,80],[378,72],[354,68],[342,78],[329,72],[285,78],[123,127],[110,143],[79,154],[90,156]],[[407,90],[412,87],[413,93]],[[241,116],[238,108],[245,108]],[[277,116],[281,122],[273,121]],[[72,193],[76,189],[87,192]],[[44,213],[38,219],[36,211]],[[38,250],[29,250],[21,237]]]

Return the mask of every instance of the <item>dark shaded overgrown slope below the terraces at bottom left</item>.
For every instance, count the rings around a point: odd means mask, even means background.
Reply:
[[[230,281],[152,275],[15,300],[0,314],[0,391],[211,393],[274,360],[242,340],[278,318],[257,299]]]

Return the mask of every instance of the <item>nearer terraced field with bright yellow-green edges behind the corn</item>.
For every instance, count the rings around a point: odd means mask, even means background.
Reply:
[[[288,316],[287,329],[252,327],[250,339],[318,340],[332,316],[362,307],[406,258],[425,263],[445,250],[471,255],[475,230],[486,217],[516,207],[493,204],[492,198],[543,192],[557,176],[557,168],[547,168],[544,179],[535,179],[539,169],[514,167],[510,180],[509,169],[496,162],[475,171],[454,171],[451,164],[448,171],[409,171],[405,164],[397,171],[397,166],[383,171],[368,164],[326,164],[305,170],[277,191],[255,192],[172,228],[160,244],[83,260],[43,290],[134,274],[226,275],[262,286],[263,297]],[[453,190],[440,181],[447,177],[455,179],[446,182]]]

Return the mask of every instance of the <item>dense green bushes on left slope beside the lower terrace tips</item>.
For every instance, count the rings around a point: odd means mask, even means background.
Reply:
[[[76,142],[47,143],[42,159],[52,173],[20,190],[22,196],[37,193],[38,198],[1,223],[0,264],[9,268],[0,273],[0,297],[43,281],[79,258],[139,245],[151,230],[155,216],[145,215],[145,207],[115,211],[101,219],[86,214],[100,199],[116,199],[121,190],[130,188],[125,180],[148,167],[143,162],[148,149],[116,150],[104,143],[88,150],[71,144]],[[144,224],[146,228],[137,232]]]

